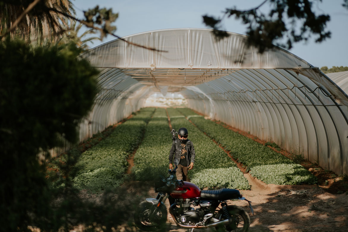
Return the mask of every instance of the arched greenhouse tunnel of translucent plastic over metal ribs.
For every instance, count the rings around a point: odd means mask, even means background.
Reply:
[[[333,81],[279,47],[259,54],[246,38],[229,32],[218,40],[208,29],[166,29],[90,49],[81,57],[100,71],[100,91],[81,122],[80,141],[139,110],[153,93],[175,93],[211,119],[348,174],[344,78]]]

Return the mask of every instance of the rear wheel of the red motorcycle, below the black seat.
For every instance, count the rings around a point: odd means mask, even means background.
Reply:
[[[249,230],[250,218],[246,211],[239,206],[227,206],[227,211],[230,214],[230,220],[228,225],[216,227],[217,231],[233,231],[233,232],[246,232]],[[217,216],[222,215],[221,218],[226,219],[223,216],[220,209]]]

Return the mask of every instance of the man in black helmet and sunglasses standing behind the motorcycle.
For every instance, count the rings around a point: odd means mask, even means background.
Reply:
[[[183,181],[187,179],[187,171],[193,168],[196,156],[193,143],[187,139],[188,134],[187,129],[181,127],[178,131],[179,139],[173,141],[172,149],[169,152],[169,169],[173,169],[174,163],[177,166],[176,179]]]

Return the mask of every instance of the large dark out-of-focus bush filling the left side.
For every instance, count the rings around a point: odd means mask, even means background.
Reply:
[[[64,140],[76,142],[78,122],[92,106],[97,72],[77,54],[74,45],[34,49],[18,40],[0,43],[3,231],[61,226],[38,154]]]

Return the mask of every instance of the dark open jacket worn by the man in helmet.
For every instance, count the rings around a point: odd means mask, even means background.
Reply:
[[[187,144],[187,166],[190,165],[190,162],[195,162],[195,148],[193,147],[193,143],[190,139],[186,140]],[[174,157],[174,160],[173,160]],[[172,149],[169,152],[169,163],[174,163],[176,166],[180,163],[180,157],[181,157],[181,141],[180,139],[176,138],[173,141]],[[190,162],[189,162],[190,161]]]

